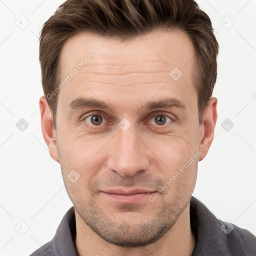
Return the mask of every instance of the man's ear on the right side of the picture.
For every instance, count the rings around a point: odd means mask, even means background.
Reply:
[[[211,97],[204,110],[203,122],[200,125],[199,161],[207,154],[214,136],[214,129],[217,121],[217,98]]]

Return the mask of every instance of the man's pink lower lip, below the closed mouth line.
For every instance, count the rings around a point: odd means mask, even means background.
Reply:
[[[154,192],[137,193],[137,194],[113,194],[113,193],[106,193],[106,192],[102,192],[102,193],[108,196],[110,199],[119,203],[136,203],[136,202],[140,202],[143,199],[148,199],[149,196],[152,195]]]

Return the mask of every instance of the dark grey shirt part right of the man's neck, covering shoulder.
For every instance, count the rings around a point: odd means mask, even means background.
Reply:
[[[193,256],[256,256],[256,237],[251,232],[216,218],[194,197],[190,200],[190,225],[196,238]]]

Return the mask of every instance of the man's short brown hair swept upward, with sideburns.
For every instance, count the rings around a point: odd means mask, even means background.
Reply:
[[[59,57],[65,41],[81,31],[130,39],[156,28],[186,32],[195,50],[193,83],[197,93],[199,123],[212,95],[217,76],[218,43],[210,18],[193,0],[67,0],[44,23],[39,60],[43,92],[59,83]],[[55,93],[54,93],[55,94]],[[57,95],[47,97],[56,128]]]

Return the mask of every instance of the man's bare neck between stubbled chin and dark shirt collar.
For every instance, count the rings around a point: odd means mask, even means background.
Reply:
[[[109,243],[93,232],[75,211],[76,237],[75,247],[79,256],[190,256],[195,246],[195,238],[190,228],[189,203],[179,215],[172,228],[159,240],[141,247],[120,247]]]

